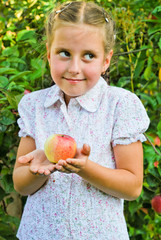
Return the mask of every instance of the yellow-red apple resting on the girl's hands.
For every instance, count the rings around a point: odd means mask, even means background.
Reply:
[[[49,136],[44,145],[45,155],[50,162],[57,163],[60,159],[73,158],[77,144],[74,138],[64,134]]]

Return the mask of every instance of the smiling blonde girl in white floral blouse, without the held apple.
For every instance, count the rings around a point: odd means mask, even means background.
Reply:
[[[149,118],[137,96],[101,77],[111,61],[113,21],[92,2],[52,11],[47,57],[55,85],[19,104],[21,137],[15,189],[28,195],[21,240],[128,240],[123,199],[136,199],[143,181],[143,132]],[[48,161],[53,133],[77,142],[75,158]]]

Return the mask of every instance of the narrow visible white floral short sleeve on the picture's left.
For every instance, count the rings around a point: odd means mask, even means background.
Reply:
[[[26,94],[18,105],[18,113],[20,118],[17,123],[20,128],[18,133],[19,137],[30,136],[35,138],[35,130],[34,130],[34,116],[35,116],[35,107],[31,101],[30,97],[31,93]]]

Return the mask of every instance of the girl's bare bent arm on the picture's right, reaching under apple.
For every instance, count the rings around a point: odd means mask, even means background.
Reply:
[[[141,142],[114,147],[116,169],[103,167],[92,162],[88,157],[68,159],[67,163],[59,162],[68,171],[75,171],[89,183],[114,197],[126,200],[136,199],[143,182],[143,150]],[[79,170],[78,170],[79,169]]]

